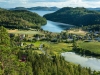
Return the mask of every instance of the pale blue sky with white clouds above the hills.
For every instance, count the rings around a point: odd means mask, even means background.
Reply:
[[[15,8],[15,7],[100,7],[100,0],[0,0],[0,7]]]

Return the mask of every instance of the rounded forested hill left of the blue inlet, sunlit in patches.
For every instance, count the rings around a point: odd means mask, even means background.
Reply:
[[[39,27],[46,19],[27,10],[6,10],[0,8],[0,25],[7,28]]]

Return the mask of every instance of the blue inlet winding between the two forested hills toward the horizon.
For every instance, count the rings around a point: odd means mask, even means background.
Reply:
[[[43,16],[45,14],[53,13],[55,11],[32,11],[32,12],[36,12],[40,16]],[[50,31],[50,32],[61,32],[63,30],[69,29],[70,27],[73,27],[73,25],[59,23],[59,22],[53,22],[53,21],[47,20],[47,24],[42,26],[41,28],[43,30],[47,30],[47,31]]]

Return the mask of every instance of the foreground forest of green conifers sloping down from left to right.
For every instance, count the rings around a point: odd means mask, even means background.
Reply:
[[[66,62],[61,56],[20,50],[11,39],[7,30],[0,27],[0,75],[98,75],[90,68]]]

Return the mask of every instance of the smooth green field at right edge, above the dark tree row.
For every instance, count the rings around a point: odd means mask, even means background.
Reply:
[[[93,42],[78,41],[77,45],[80,48],[90,50],[91,52],[100,54],[100,42],[97,42],[97,41],[93,41]]]

